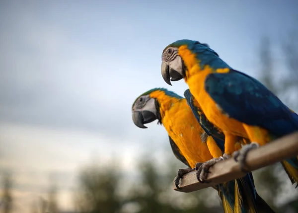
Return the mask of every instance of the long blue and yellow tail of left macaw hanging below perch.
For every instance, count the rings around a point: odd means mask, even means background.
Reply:
[[[220,184],[218,189],[224,213],[274,213],[257,194],[251,173],[243,178]]]

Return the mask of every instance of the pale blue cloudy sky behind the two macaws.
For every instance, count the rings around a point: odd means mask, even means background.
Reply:
[[[261,36],[278,46],[297,30],[297,6],[296,0],[1,1],[0,163],[24,174],[73,174],[90,155],[119,152],[128,169],[137,150],[166,143],[155,122],[147,130],[134,126],[135,98],[153,87],[180,95],[187,89],[183,81],[171,87],[162,80],[164,47],[183,38],[208,43],[231,67],[257,76]]]

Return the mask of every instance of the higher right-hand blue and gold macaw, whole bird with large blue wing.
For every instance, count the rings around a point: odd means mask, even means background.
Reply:
[[[242,169],[250,149],[298,131],[295,112],[261,82],[228,66],[207,44],[185,39],[168,45],[161,73],[170,85],[184,78],[206,118],[224,133],[225,154],[235,151],[236,137],[251,142],[235,154]],[[297,183],[297,156],[281,163]]]

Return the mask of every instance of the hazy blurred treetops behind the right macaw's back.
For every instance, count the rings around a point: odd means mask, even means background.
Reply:
[[[287,106],[297,111],[298,31],[289,32],[279,46],[275,44],[268,36],[261,39],[258,77]]]

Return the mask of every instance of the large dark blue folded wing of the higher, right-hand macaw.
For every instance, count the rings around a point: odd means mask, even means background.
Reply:
[[[211,73],[205,90],[223,113],[280,137],[298,130],[298,116],[261,82],[242,72]]]

